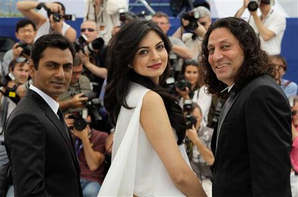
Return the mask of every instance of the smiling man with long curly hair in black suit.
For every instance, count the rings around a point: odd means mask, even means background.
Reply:
[[[212,196],[291,196],[291,112],[260,38],[246,21],[212,24],[202,43],[209,93],[227,98],[214,128]]]

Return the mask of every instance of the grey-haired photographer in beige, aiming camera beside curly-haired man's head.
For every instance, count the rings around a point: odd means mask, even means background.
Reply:
[[[185,46],[193,51],[193,58],[197,59],[201,51],[202,40],[210,25],[210,11],[203,6],[199,6],[182,16],[181,27],[176,30],[173,37],[181,39]]]

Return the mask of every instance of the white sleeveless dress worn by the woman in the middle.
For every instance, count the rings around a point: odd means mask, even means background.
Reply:
[[[146,87],[131,83],[126,98],[127,104],[135,108],[128,110],[121,107],[112,164],[98,196],[185,196],[174,185],[140,124],[143,96],[147,91]],[[184,145],[180,145],[179,149],[190,167]]]

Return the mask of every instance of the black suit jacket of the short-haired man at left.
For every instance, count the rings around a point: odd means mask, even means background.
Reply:
[[[16,196],[82,196],[70,139],[46,101],[29,89],[5,127]]]

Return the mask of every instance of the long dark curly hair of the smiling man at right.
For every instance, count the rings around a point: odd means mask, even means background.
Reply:
[[[249,81],[260,76],[269,75],[278,80],[278,71],[272,65],[267,53],[261,49],[260,37],[254,32],[252,27],[243,19],[227,17],[217,20],[212,24],[205,34],[202,42],[201,56],[201,77],[207,85],[208,92],[219,97],[226,97],[226,91],[221,91],[227,86],[217,79],[216,74],[208,62],[208,40],[211,32],[217,28],[228,29],[240,43],[244,52],[244,61],[235,77],[235,86],[238,90],[242,89]]]

